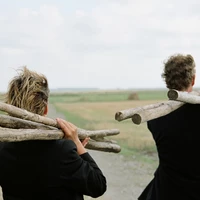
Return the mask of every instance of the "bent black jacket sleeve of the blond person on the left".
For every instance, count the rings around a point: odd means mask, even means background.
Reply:
[[[94,198],[106,191],[106,178],[96,162],[89,153],[79,156],[71,140],[63,142],[60,165],[62,184],[65,187]]]

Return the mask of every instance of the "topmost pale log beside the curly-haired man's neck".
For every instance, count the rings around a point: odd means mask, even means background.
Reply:
[[[183,92],[171,89],[168,91],[167,96],[171,100],[181,101],[185,103],[191,104],[199,104],[200,103],[200,93],[197,91],[193,92]]]

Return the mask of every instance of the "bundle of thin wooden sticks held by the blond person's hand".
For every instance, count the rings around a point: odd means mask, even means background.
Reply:
[[[64,134],[56,120],[40,116],[15,106],[0,102],[0,141],[17,142],[24,140],[54,140],[63,138]],[[8,114],[8,115],[7,115]],[[118,129],[84,130],[78,128],[79,139],[90,137],[86,148],[119,153],[121,147],[107,136],[119,134]]]

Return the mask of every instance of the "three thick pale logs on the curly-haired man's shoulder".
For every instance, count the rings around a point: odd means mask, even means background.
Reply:
[[[188,93],[170,89],[167,93],[168,101],[119,111],[115,114],[115,119],[117,121],[132,119],[134,124],[139,125],[143,122],[167,115],[185,103],[199,104],[199,95],[200,92],[197,91]]]

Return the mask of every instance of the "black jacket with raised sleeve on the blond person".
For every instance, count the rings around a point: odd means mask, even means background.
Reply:
[[[101,196],[106,178],[72,140],[0,143],[4,200],[83,200]]]

